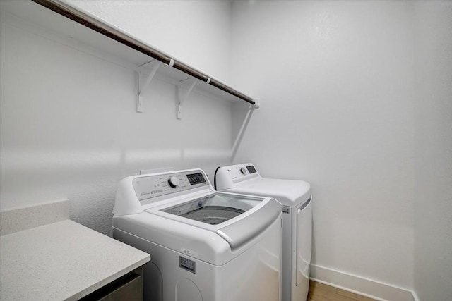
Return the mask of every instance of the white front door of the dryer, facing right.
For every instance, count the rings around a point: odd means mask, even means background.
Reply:
[[[297,210],[297,286],[309,287],[311,264],[312,205],[311,197]]]

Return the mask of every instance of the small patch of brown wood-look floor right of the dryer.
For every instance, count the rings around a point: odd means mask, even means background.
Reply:
[[[309,283],[308,301],[375,301],[369,297],[334,288],[333,286],[311,281]]]

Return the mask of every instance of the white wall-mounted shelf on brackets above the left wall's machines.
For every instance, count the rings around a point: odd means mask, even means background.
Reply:
[[[43,2],[44,4],[52,5],[61,4],[63,6],[68,6],[68,4],[64,4],[60,1],[54,0],[52,1],[35,0],[35,1],[40,1]],[[126,63],[133,65],[134,69],[136,70],[139,70],[138,66],[141,66],[145,63],[155,60],[153,57],[144,54],[142,51],[132,49],[131,47],[126,46],[121,42],[117,42],[117,40],[115,39],[107,37],[106,35],[103,35],[100,32],[91,29],[90,27],[86,27],[85,25],[82,25],[80,23],[77,23],[76,21],[66,18],[66,16],[62,16],[60,13],[56,13],[50,10],[49,8],[46,8],[33,1],[0,1],[0,8],[2,14],[11,13],[13,16],[23,19],[29,24],[41,27],[42,30],[49,32],[51,35],[57,35],[67,40],[70,39],[71,41],[73,41],[73,43],[75,42],[81,43],[85,45],[85,47],[89,47],[90,49],[94,49],[94,51],[97,51],[97,53],[101,53],[101,55],[105,54],[105,56],[109,57],[113,56],[120,60],[126,61]],[[71,9],[76,10],[73,7],[71,7]],[[86,16],[86,14],[88,14],[86,12],[77,10],[76,12],[79,12],[81,16]],[[102,26],[105,25],[106,27],[112,28],[113,30],[117,30],[117,32],[119,32],[120,35],[126,35],[126,38],[130,39],[132,42],[144,45],[145,47],[148,47],[152,51],[157,51],[157,53],[165,56],[165,59],[173,59],[168,54],[165,54],[165,52],[155,49],[154,47],[150,47],[148,44],[145,44],[145,42],[137,39],[136,37],[133,37],[132,35],[129,35],[129,33],[120,30],[114,25],[107,23],[105,20],[100,20],[99,18],[92,15],[89,15],[88,17],[95,18],[95,22],[102,23]],[[194,70],[195,73],[203,75],[201,76],[201,78],[204,78],[205,76],[206,79],[207,78],[212,79],[206,80],[206,82],[203,82],[203,80],[199,79],[199,82],[195,88],[196,91],[207,92],[208,94],[212,94],[216,97],[220,97],[221,99],[225,99],[232,102],[241,102],[243,100],[245,100],[246,102],[251,102],[251,104],[255,102],[252,97],[249,97],[243,94],[242,92],[234,90],[232,87],[229,87],[225,85],[223,82],[220,82],[220,80],[212,78],[209,75],[206,75],[205,73],[202,73],[201,71],[196,70],[195,68],[192,68],[191,66],[182,63],[181,61],[177,61],[177,59],[173,60],[175,61],[175,64],[179,64],[180,66],[182,66],[182,68],[184,67],[191,68],[191,70]],[[184,88],[189,87],[189,84],[186,84],[185,82],[181,81],[193,78],[191,75],[186,74],[181,70],[178,70],[177,68],[169,67],[165,62],[160,64],[160,67],[157,70],[156,77],[163,78],[169,82],[174,83],[174,85],[180,85],[181,87]],[[232,92],[237,92],[237,94],[239,94],[239,97],[237,97],[234,94],[230,94],[229,92],[225,92],[224,90],[221,90],[218,87],[214,87],[213,81],[218,82],[218,85],[223,85],[224,87],[227,87],[227,89],[231,89]]]

